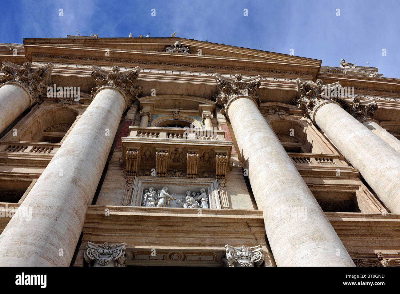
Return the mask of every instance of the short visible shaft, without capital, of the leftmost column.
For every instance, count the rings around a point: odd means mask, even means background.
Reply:
[[[30,94],[20,84],[7,82],[0,85],[0,133],[30,107],[30,104]]]

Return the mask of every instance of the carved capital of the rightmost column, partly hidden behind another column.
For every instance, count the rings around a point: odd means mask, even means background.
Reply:
[[[375,115],[375,111],[378,109],[375,98],[360,101],[360,98],[356,96],[352,100],[343,99],[343,101],[346,102],[342,103],[344,110],[354,116],[359,122],[372,119],[372,116]]]

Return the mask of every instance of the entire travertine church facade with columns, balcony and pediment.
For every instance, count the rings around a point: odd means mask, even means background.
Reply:
[[[0,266],[399,266],[399,79],[126,39],[2,50]]]

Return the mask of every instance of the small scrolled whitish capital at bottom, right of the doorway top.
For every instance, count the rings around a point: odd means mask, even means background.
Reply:
[[[259,266],[264,261],[264,254],[261,252],[261,245],[254,247],[242,246],[236,248],[225,245],[226,259],[229,266]]]

